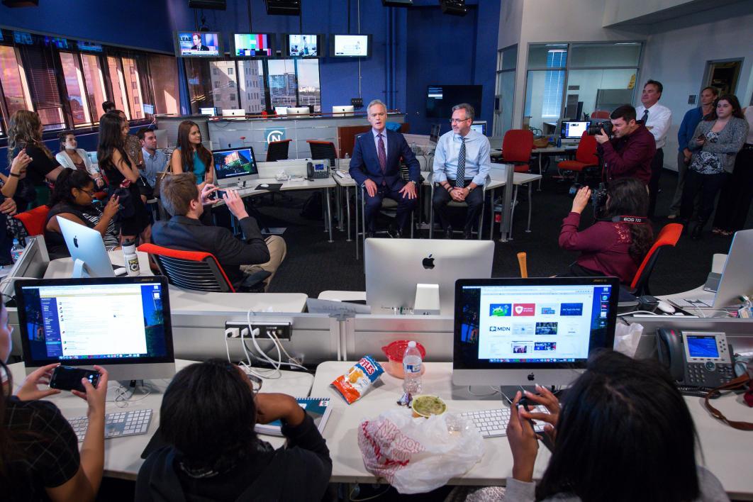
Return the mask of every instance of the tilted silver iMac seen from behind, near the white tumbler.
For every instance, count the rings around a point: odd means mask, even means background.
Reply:
[[[58,218],[57,224],[60,226],[63,239],[66,239],[68,252],[73,260],[72,277],[115,276],[101,233],[66,218]]]

